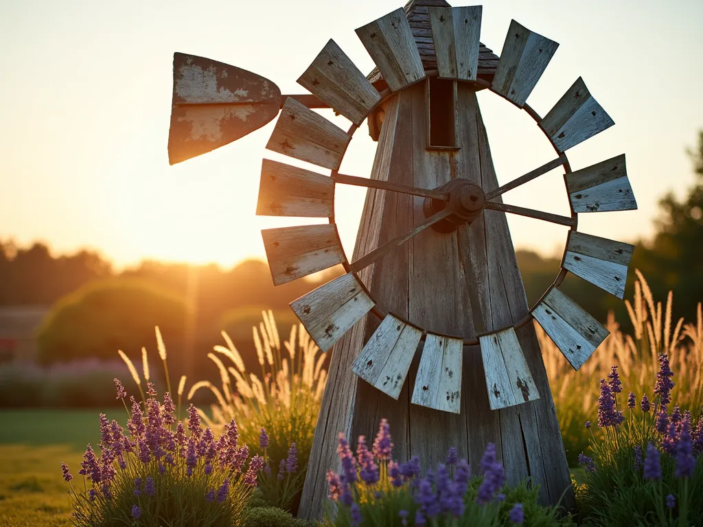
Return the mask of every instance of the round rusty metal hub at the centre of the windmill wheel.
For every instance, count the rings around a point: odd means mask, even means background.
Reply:
[[[486,195],[482,188],[464,178],[453,179],[436,190],[449,193],[449,201],[426,197],[423,210],[425,217],[429,218],[432,214],[451,207],[451,215],[432,226],[440,233],[451,233],[460,225],[471,223],[481,214],[486,204]]]

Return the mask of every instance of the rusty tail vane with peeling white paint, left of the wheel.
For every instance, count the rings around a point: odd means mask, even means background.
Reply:
[[[169,164],[236,141],[278,115],[276,84],[239,67],[174,53]]]

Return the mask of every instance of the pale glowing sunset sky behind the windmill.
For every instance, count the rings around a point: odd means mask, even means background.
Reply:
[[[0,239],[43,240],[57,254],[89,247],[117,267],[263,257],[262,228],[314,221],[255,216],[262,157],[307,164],[265,150],[272,122],[169,166],[174,51],[243,67],[283,93],[307,93],[295,81],[330,38],[370,71],[354,30],[401,1],[0,0]],[[580,214],[579,230],[631,242],[651,235],[659,197],[683,195],[693,183],[685,148],[703,128],[703,1],[487,1],[481,40],[498,54],[512,18],[560,43],[527,102],[546,115],[581,76],[616,123],[567,151],[572,168],[626,153],[638,211]],[[488,91],[479,104],[501,184],[555,157],[524,112]],[[368,177],[374,152],[363,124],[340,171]],[[561,175],[552,171],[504,200],[567,214]],[[365,192],[337,190],[348,256]],[[561,254],[565,228],[509,222],[517,247]]]

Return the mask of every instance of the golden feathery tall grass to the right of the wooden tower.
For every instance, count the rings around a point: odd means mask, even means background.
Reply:
[[[625,301],[633,334],[622,332],[611,313],[605,324],[610,336],[579,371],[574,371],[542,328],[535,325],[569,466],[574,467],[579,453],[588,448],[591,434],[585,433],[583,422],[593,419],[598,411],[599,379],[607,377],[612,364],[619,365],[619,376],[626,392],[645,393],[657,374],[659,356],[666,353],[677,370],[678,381],[672,396],[681,410],[689,410],[693,417],[700,415],[703,405],[701,304],[698,304],[695,323],[685,323],[683,318],[673,320],[673,294],[669,292],[665,304],[654,301],[645,277],[638,270],[635,273],[634,297]],[[594,433],[602,434],[602,430],[595,429]]]

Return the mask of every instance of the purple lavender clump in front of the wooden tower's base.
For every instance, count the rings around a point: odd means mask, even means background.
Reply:
[[[420,460],[392,460],[393,443],[386,419],[371,449],[359,436],[356,456],[343,434],[337,453],[340,474],[328,471],[328,526],[569,526],[556,509],[537,503],[538,488],[505,485],[503,464],[489,444],[481,474],[472,477],[466,460],[450,448],[446,463],[423,474]]]

